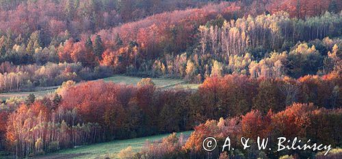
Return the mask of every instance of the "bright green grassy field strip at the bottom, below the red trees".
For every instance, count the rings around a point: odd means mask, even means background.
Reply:
[[[179,136],[183,134],[185,139],[187,139],[192,131],[177,133]],[[94,145],[87,145],[82,147],[77,147],[74,149],[65,149],[47,156],[36,157],[37,159],[52,159],[52,158],[118,158],[117,154],[129,146],[132,147],[133,151],[140,151],[142,146],[148,140],[150,143],[159,141],[162,138],[168,136],[169,134],[161,134],[155,136],[148,136],[143,138],[132,138],[127,140],[114,140],[108,143],[98,143]]]

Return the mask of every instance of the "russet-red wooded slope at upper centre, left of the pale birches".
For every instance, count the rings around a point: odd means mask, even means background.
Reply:
[[[211,4],[200,9],[156,14],[141,21],[101,30],[98,35],[103,38],[107,48],[118,47],[116,38],[119,35],[124,45],[135,41],[145,56],[155,57],[163,52],[162,49],[165,47],[171,47],[170,51],[185,49],[186,45],[192,42],[194,30],[198,25],[215,19],[218,14],[231,19],[233,13],[237,13],[238,10],[239,8],[232,8],[231,3]]]

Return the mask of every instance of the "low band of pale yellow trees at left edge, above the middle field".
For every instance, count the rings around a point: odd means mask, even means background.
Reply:
[[[14,65],[10,62],[0,64],[0,93],[21,90],[34,90],[36,87],[59,86],[63,82],[88,81],[112,75],[106,66],[83,67],[81,63],[47,63]]]

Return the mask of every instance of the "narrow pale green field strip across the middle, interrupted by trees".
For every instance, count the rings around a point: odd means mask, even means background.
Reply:
[[[118,84],[137,84],[140,82],[142,77],[130,77],[126,75],[114,75],[112,77],[107,77],[104,79],[96,79],[96,80],[104,80],[105,82],[114,82]],[[197,89],[199,84],[187,84],[183,79],[169,79],[169,78],[152,78],[152,81],[155,83],[155,86],[158,88],[189,88],[189,89]],[[55,89],[58,86],[49,86],[37,88],[36,91],[31,92],[18,92],[18,93],[1,93],[0,99],[5,100],[10,97],[27,97],[29,94],[33,93],[36,97],[41,97],[43,95],[48,95],[49,93],[55,92]]]

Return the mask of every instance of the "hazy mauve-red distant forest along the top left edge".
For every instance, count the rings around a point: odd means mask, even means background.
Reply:
[[[209,1],[159,0],[57,0],[0,1],[0,32],[25,36],[37,30],[45,33],[49,42],[68,30],[73,38],[137,21],[146,16],[200,7]],[[49,43],[47,43],[49,44]]]

